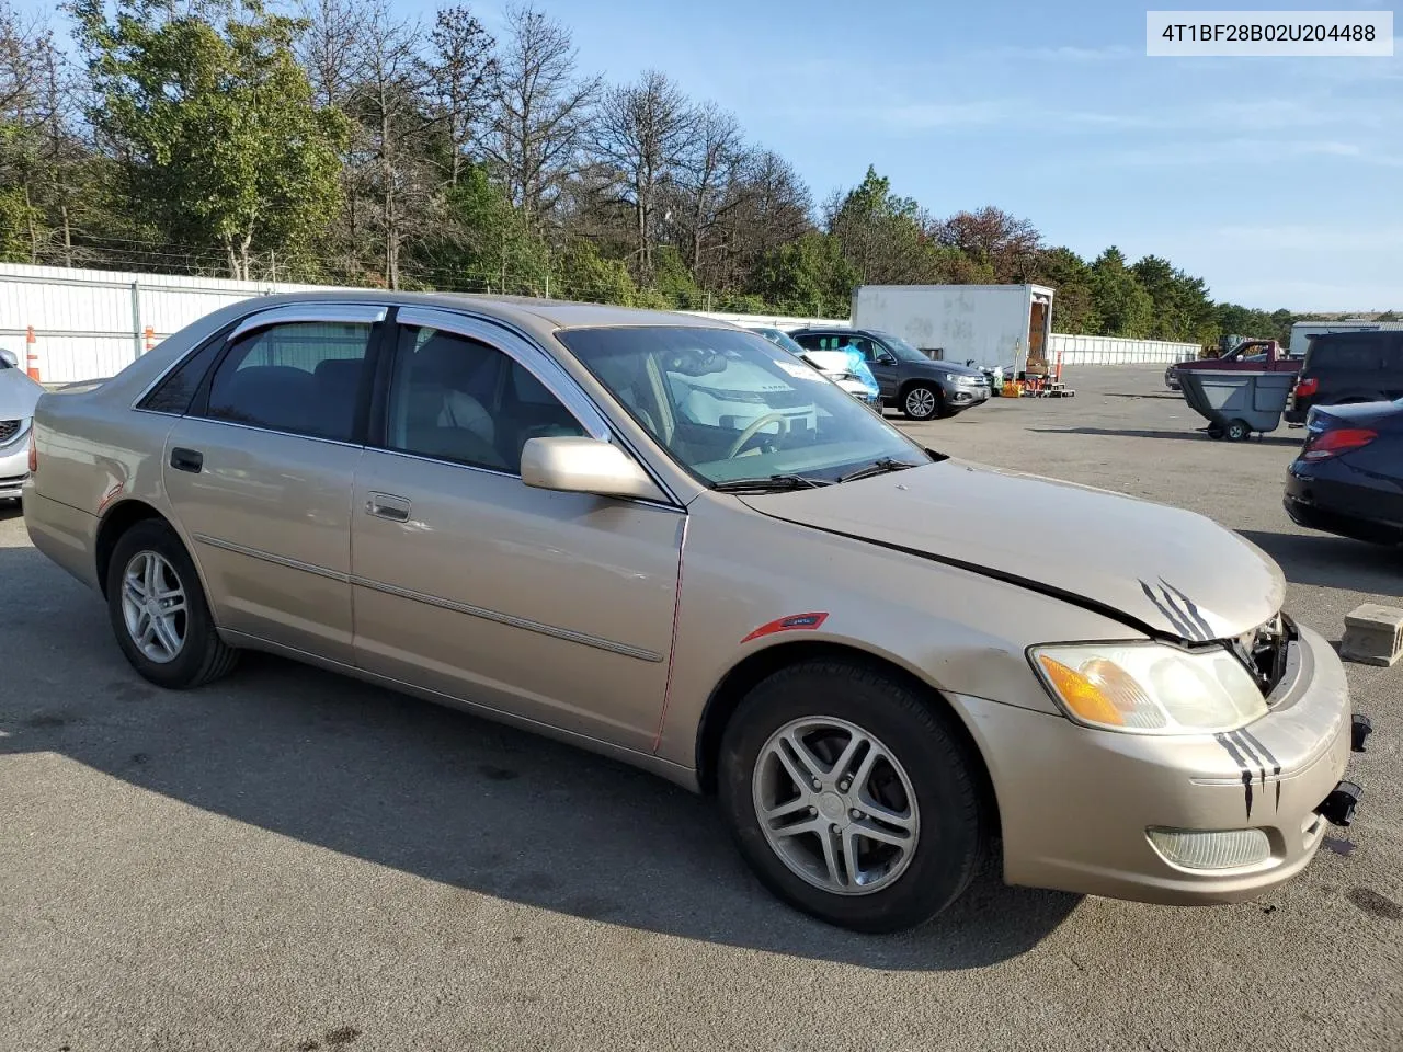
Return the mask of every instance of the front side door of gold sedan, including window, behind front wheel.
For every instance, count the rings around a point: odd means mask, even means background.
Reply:
[[[505,330],[400,311],[373,425],[380,447],[366,449],[356,477],[356,661],[651,750],[686,516],[522,483],[530,438],[605,431],[577,397],[558,366]]]

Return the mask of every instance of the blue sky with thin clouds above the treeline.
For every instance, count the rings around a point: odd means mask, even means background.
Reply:
[[[502,0],[471,6],[501,31]],[[1403,310],[1403,41],[1392,59],[1150,59],[1148,4],[1125,0],[539,6],[584,70],[659,69],[716,100],[819,202],[871,164],[936,215],[996,205],[1086,258],[1166,257],[1219,300]]]

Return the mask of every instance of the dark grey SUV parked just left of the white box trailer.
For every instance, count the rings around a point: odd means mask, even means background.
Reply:
[[[885,405],[911,419],[954,417],[989,398],[989,377],[979,369],[937,362],[901,337],[874,328],[800,328],[790,332],[805,351],[856,346],[873,370]]]

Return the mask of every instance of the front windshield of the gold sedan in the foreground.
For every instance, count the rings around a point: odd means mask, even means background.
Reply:
[[[707,484],[814,484],[930,456],[838,384],[755,332],[577,328],[560,341],[682,467]]]

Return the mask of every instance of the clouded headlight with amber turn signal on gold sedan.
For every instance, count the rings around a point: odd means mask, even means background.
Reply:
[[[1247,669],[1226,649],[1157,642],[1034,647],[1052,697],[1080,724],[1127,734],[1236,731],[1267,714]]]

